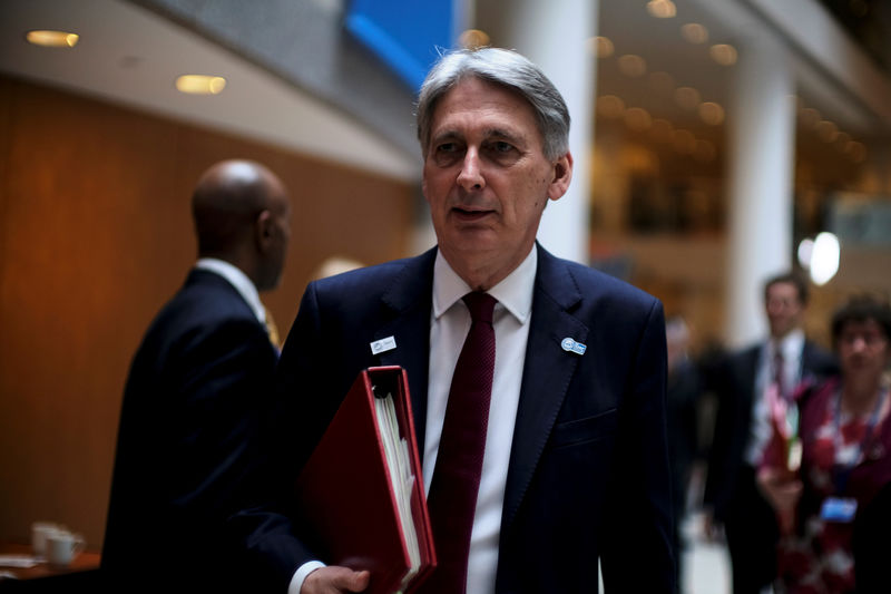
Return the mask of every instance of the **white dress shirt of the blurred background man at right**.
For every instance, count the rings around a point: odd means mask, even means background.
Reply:
[[[767,340],[758,354],[758,367],[755,376],[755,395],[752,399],[752,427],[745,460],[757,468],[764,456],[764,448],[773,435],[771,413],[765,392],[773,382],[773,366],[776,350],[783,354],[783,384],[792,391],[801,381],[802,350],[804,349],[804,331],[796,328],[779,342]]]

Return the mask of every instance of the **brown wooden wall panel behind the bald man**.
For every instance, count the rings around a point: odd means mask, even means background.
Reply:
[[[413,189],[14,79],[0,78],[0,539],[50,519],[98,547],[127,370],[195,259],[200,173],[253,158],[288,187],[287,266],[264,295],[283,331],[324,257],[405,255]]]

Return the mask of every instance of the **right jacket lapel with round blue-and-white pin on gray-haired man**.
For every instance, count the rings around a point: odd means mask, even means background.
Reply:
[[[541,246],[537,249],[532,319],[508,467],[502,535],[516,517],[580,360],[560,343],[565,338],[581,343],[588,339],[587,325],[570,313],[581,294],[569,270]]]

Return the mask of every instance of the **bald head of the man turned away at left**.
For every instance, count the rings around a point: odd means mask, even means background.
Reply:
[[[291,234],[291,206],[275,174],[251,160],[217,163],[198,179],[192,214],[199,257],[235,264],[260,291],[277,284]]]

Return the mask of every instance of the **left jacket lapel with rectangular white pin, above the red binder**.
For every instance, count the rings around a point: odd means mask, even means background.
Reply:
[[[395,349],[378,356],[382,366],[401,366],[409,377],[418,449],[423,451],[427,426],[427,380],[430,363],[430,308],[433,293],[435,247],[407,261],[382,301],[390,317],[374,332],[374,340],[393,337]]]

